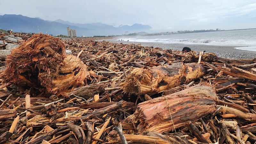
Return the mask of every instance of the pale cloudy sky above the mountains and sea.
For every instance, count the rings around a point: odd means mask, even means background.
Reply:
[[[256,28],[256,0],[1,0],[0,15],[73,23],[148,24],[153,31]]]

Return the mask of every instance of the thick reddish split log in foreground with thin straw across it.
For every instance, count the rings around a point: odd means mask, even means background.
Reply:
[[[169,132],[215,111],[213,86],[198,84],[180,92],[142,102],[134,115],[140,120],[138,132]],[[196,111],[196,113],[195,113]]]

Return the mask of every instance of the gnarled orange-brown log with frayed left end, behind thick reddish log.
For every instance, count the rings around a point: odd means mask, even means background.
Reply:
[[[121,86],[124,93],[156,94],[199,78],[204,71],[197,63],[135,68]]]

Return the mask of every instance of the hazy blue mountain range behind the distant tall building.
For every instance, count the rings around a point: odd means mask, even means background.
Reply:
[[[71,23],[64,20],[43,20],[39,17],[30,18],[22,15],[5,14],[0,15],[0,29],[12,29],[15,32],[27,33],[48,33],[54,36],[67,35],[67,27],[76,29],[77,36],[107,36],[107,35],[122,35],[126,31],[128,33],[148,31],[152,27],[135,23],[132,26],[121,25],[114,27],[111,25],[97,23],[79,24]]]

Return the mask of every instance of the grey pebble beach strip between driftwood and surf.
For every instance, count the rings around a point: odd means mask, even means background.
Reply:
[[[132,44],[132,42],[127,41],[116,41],[116,39],[106,39],[106,41],[123,43],[123,44]],[[236,47],[243,46],[218,46],[218,45],[200,45],[200,44],[164,44],[164,43],[145,43],[145,42],[134,42],[134,44],[141,44],[142,46],[153,46],[160,47],[163,49],[173,49],[173,50],[182,50],[183,47],[189,47],[191,50],[195,51],[206,51],[213,52],[219,57],[227,59],[253,59],[256,57],[256,52],[254,51],[245,51],[235,49]]]

